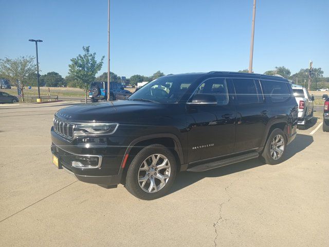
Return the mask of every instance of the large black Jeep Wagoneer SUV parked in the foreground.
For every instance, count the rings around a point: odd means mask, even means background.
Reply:
[[[261,156],[283,161],[298,104],[288,80],[258,74],[160,77],[128,100],[59,110],[53,163],[78,180],[125,185],[134,196],[165,195],[178,171],[199,172]]]

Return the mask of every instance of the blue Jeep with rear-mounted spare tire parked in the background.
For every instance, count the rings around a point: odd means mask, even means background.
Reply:
[[[118,82],[111,82],[109,88],[109,99],[116,100],[116,99],[126,99],[132,95],[132,93],[128,90],[124,90],[121,83]],[[106,100],[107,99],[107,82],[92,82],[90,83],[90,90],[89,90],[89,98],[92,102],[98,102],[99,100]]]

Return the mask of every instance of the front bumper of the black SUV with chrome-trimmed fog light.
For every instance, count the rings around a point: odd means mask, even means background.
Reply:
[[[121,164],[126,151],[117,136],[93,136],[68,140],[51,128],[51,152],[59,158],[59,167],[86,183],[119,184]]]

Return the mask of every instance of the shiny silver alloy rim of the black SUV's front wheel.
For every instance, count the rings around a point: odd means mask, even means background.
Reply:
[[[163,154],[152,154],[145,158],[138,170],[138,184],[148,193],[154,193],[166,186],[171,165]]]

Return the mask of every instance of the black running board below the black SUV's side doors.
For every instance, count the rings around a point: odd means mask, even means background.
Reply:
[[[237,162],[247,161],[250,160],[251,158],[257,158],[258,156],[259,156],[258,152],[245,153],[234,157],[224,158],[224,160],[220,160],[220,161],[213,161],[209,163],[196,165],[187,169],[187,171],[192,171],[192,172],[207,171],[221,166],[227,166]]]

